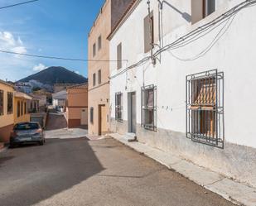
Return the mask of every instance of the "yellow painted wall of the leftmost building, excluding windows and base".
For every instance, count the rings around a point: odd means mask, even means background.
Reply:
[[[14,89],[11,86],[6,84],[2,84],[0,82],[0,89],[3,90],[3,112],[4,114],[0,116],[0,128],[6,127],[8,125],[13,124],[13,114],[7,114],[7,93],[14,92]],[[14,102],[13,102],[14,103]],[[13,104],[12,104],[13,105]]]

